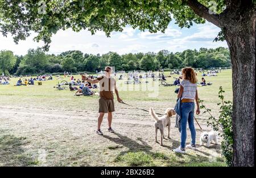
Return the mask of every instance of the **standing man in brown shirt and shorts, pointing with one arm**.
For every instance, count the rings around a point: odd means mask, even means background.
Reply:
[[[114,130],[112,129],[112,112],[115,111],[114,107],[114,95],[113,91],[115,91],[115,94],[117,94],[117,101],[121,102],[121,98],[119,98],[118,89],[115,85],[115,79],[111,77],[112,68],[111,67],[105,67],[105,75],[97,77],[96,79],[92,80],[91,78],[86,77],[85,75],[82,75],[82,80],[87,80],[91,84],[100,83],[100,99],[98,100],[99,103],[99,110],[100,113],[98,117],[98,129],[96,133],[98,135],[103,135],[101,131],[101,123],[103,121],[103,117],[105,113],[108,113],[108,122],[109,122],[109,129],[108,131],[110,133],[114,133]]]

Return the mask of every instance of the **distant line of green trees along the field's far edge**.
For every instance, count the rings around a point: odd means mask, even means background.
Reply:
[[[108,52],[92,55],[81,51],[66,51],[60,55],[48,55],[40,48],[29,49],[25,56],[14,56],[11,51],[0,51],[0,72],[5,74],[43,74],[67,72],[96,72],[106,65],[115,71],[155,71],[158,69],[180,69],[183,67],[212,68],[230,67],[229,49],[200,48],[199,51],[187,49],[183,52],[167,50],[158,53],[127,53],[118,55]]]

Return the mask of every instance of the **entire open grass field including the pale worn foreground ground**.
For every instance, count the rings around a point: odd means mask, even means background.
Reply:
[[[166,76],[170,75],[165,72]],[[199,97],[218,117],[218,88],[225,90],[225,100],[232,101],[232,75],[230,70],[217,73],[216,77],[205,77],[211,86],[199,86]],[[197,73],[201,81],[201,73]],[[172,83],[174,77],[167,77]],[[81,78],[75,76],[75,78]],[[198,152],[188,151],[176,155],[171,150],[179,146],[179,132],[171,130],[171,140],[164,147],[154,143],[154,119],[148,113],[115,102],[114,129],[117,134],[106,132],[106,118],[102,123],[104,136],[94,133],[97,125],[98,96],[73,96],[74,92],[56,90],[57,82],[43,81],[39,86],[14,86],[18,78],[11,78],[10,85],[0,85],[0,166],[1,165],[110,165],[110,166],[225,166],[220,145],[200,147]],[[64,78],[70,81],[70,78]],[[145,79],[142,80],[144,82]],[[151,80],[151,79],[148,79]],[[152,91],[131,91],[139,84],[123,84],[130,90],[119,88],[119,95],[128,104],[162,112],[174,107],[176,86],[159,86],[156,97]],[[144,84],[144,83],[143,83]],[[68,85],[67,85],[68,86]],[[155,84],[157,86],[157,84]],[[157,88],[157,87],[156,87]],[[97,90],[96,90],[97,91]],[[197,116],[204,130],[208,115]],[[173,125],[174,122],[172,122]],[[197,141],[201,130],[197,127]],[[189,142],[189,131],[188,140]],[[199,143],[199,142],[197,142]],[[42,156],[43,155],[43,156]]]

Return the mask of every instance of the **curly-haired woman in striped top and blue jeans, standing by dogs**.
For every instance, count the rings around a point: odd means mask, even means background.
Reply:
[[[200,114],[199,101],[197,94],[197,79],[195,71],[188,67],[182,69],[183,81],[180,83],[180,89],[178,98],[181,98],[181,144],[178,148],[174,149],[174,152],[185,153],[185,147],[192,150],[196,150],[196,130],[194,126],[194,111],[195,111],[195,100],[196,100],[196,114]],[[191,143],[185,146],[187,139],[187,122],[189,130],[191,131]]]

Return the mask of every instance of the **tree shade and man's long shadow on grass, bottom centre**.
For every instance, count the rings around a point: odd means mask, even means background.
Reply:
[[[164,146],[170,149],[170,154],[166,155],[162,152],[153,152],[152,147],[144,142],[142,138],[137,138],[137,141],[118,133],[114,134],[117,135],[118,138],[113,138],[108,135],[103,136],[104,138],[121,145],[121,147],[128,148],[126,151],[119,152],[114,162],[123,163],[128,166],[223,166],[222,162],[214,162],[214,164],[212,164],[208,156],[198,154],[172,154],[171,150],[180,144],[179,141],[174,139],[168,139],[173,143],[172,147]],[[207,153],[204,154],[207,155]]]

